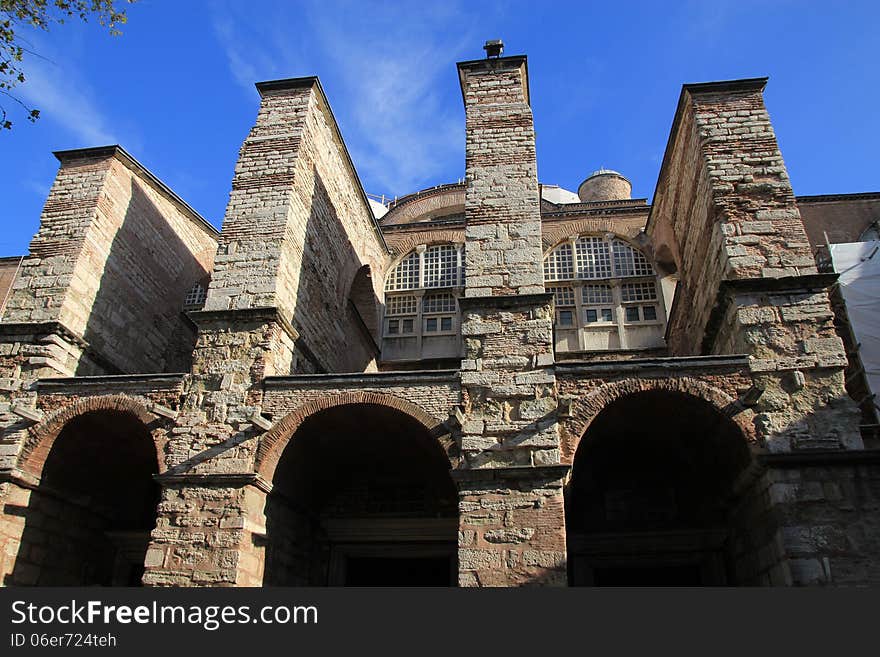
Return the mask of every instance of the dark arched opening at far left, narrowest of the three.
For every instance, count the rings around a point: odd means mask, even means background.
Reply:
[[[91,411],[58,434],[31,492],[12,584],[137,586],[156,522],[156,447],[123,411]]]

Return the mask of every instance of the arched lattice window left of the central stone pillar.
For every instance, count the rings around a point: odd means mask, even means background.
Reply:
[[[457,333],[462,259],[461,244],[421,245],[391,270],[385,282],[386,338]]]

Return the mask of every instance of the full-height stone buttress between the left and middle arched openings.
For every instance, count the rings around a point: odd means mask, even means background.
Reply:
[[[364,371],[375,357],[368,341],[351,339],[358,332],[341,304],[362,267],[383,268],[387,249],[320,83],[257,89],[205,306],[190,313],[199,335],[147,584],[261,584],[271,482],[254,459],[272,424],[263,379]]]

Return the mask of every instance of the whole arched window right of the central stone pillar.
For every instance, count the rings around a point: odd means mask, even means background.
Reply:
[[[626,241],[614,235],[572,236],[544,258],[544,281],[554,294],[560,349],[662,344],[665,318],[657,274]]]

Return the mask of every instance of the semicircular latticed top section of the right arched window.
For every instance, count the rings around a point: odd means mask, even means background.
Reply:
[[[544,260],[546,281],[653,275],[645,256],[618,239],[579,237],[560,244]]]

